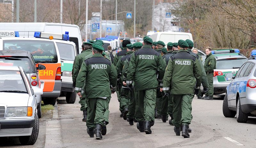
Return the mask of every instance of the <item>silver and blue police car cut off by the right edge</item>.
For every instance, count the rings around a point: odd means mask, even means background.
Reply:
[[[223,100],[223,115],[235,117],[239,123],[246,123],[248,116],[256,116],[256,60],[248,60],[233,76],[226,74],[226,79],[233,79],[226,89]]]

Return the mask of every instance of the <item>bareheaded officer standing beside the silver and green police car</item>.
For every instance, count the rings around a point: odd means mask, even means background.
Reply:
[[[205,49],[206,59],[204,61],[204,69],[207,76],[209,89],[205,93],[204,100],[213,100],[213,70],[216,69],[216,59],[212,55],[212,48],[207,47]]]

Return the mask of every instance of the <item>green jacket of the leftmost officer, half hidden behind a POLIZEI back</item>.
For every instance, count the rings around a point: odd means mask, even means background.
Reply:
[[[72,69],[72,79],[73,82],[76,82],[76,77],[79,73],[79,70],[82,66],[83,61],[85,60],[85,56],[92,53],[92,49],[83,50],[80,54],[78,54],[74,60],[73,69]]]

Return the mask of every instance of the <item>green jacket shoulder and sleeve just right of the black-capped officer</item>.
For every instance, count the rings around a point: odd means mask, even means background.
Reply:
[[[125,56],[123,56],[122,58],[120,58],[116,64],[116,72],[117,72],[117,81],[119,81],[120,83],[122,83],[123,85],[123,80],[122,80],[122,71],[123,71],[123,67],[124,67],[124,63],[125,60],[127,59],[127,57],[132,54],[133,51],[128,51],[127,53],[125,53]]]

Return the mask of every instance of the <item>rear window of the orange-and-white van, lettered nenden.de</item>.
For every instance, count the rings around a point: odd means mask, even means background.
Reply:
[[[57,53],[54,42],[41,40],[4,40],[4,50],[29,51],[35,62],[57,63]]]

